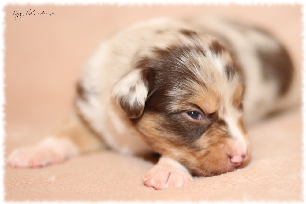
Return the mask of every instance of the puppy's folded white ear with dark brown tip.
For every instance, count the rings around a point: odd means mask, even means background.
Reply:
[[[112,96],[129,118],[137,118],[144,111],[148,91],[147,79],[140,69],[136,69],[116,84]]]

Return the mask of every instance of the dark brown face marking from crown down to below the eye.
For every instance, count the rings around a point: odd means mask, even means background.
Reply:
[[[156,113],[161,115],[159,127],[164,132],[171,132],[176,137],[165,137],[166,140],[186,146],[194,147],[194,141],[200,138],[211,124],[211,118],[207,118],[207,125],[191,122],[186,109],[175,110],[173,104],[177,104],[186,98],[196,97],[199,90],[195,90],[191,84],[196,83],[206,89],[206,85],[196,75],[195,69],[203,69],[198,61],[205,57],[205,50],[199,44],[172,45],[166,49],[154,48],[153,57],[142,57],[136,63],[136,67],[143,70],[149,83],[149,94],[144,106],[144,113]],[[195,57],[196,56],[196,57]],[[208,117],[208,116],[207,116]],[[211,117],[211,116],[210,116]],[[185,119],[183,119],[185,118]],[[132,120],[135,124],[141,117]],[[162,132],[162,131],[161,131]]]

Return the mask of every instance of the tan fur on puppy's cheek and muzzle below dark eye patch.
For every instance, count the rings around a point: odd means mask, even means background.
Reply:
[[[134,121],[154,151],[179,161],[198,176],[213,176],[234,170],[224,149],[229,137],[226,127],[213,127],[192,145],[182,145],[178,135],[171,134],[160,125],[162,121],[163,117],[153,113],[144,113]]]

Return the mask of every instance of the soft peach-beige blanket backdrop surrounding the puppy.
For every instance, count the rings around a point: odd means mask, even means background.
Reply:
[[[15,16],[11,15],[12,10],[23,13],[31,8],[35,8],[35,16],[22,16],[20,20],[15,20]],[[56,14],[38,16],[42,11]],[[4,12],[5,156],[13,148],[36,143],[65,120],[71,111],[80,69],[98,43],[118,29],[139,20],[161,16],[218,15],[256,24],[280,39],[288,48],[295,66],[298,69],[302,66],[302,14],[299,5],[10,5],[5,7]],[[143,186],[141,181],[151,163],[102,152],[43,169],[5,167],[6,200],[300,200],[300,111],[284,114],[251,130],[255,159],[244,174],[250,177],[244,177],[244,180],[237,180],[241,178],[239,172],[244,171],[241,169],[219,177],[196,178],[196,182],[181,190],[153,191]],[[291,120],[288,121],[288,118]],[[267,126],[270,123],[271,126]],[[279,142],[281,139],[282,142]],[[276,144],[274,149],[267,142]],[[292,158],[289,157],[291,153],[294,155]],[[288,158],[278,160],[282,154]],[[277,159],[270,161],[268,155]],[[293,163],[291,166],[280,166],[283,162]],[[256,169],[256,164],[259,169]],[[270,174],[273,172],[271,169],[275,170],[275,165],[281,167],[282,174],[274,178],[278,171],[272,176]],[[292,174],[289,180],[282,180],[285,172]],[[249,179],[256,173],[270,176],[257,175],[257,179],[260,179],[252,183],[255,180]],[[84,175],[88,176],[85,178]],[[220,183],[218,179],[226,179],[226,182]],[[231,183],[231,179],[239,185]],[[260,183],[268,180],[267,184]],[[277,183],[281,181],[284,183]],[[212,184],[215,187],[210,187]],[[242,192],[238,192],[240,188]]]

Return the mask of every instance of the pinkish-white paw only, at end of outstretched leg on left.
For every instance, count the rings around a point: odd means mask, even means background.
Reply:
[[[34,147],[13,151],[7,163],[13,167],[40,167],[58,163],[78,154],[78,148],[69,139],[47,138]]]

